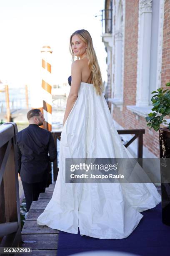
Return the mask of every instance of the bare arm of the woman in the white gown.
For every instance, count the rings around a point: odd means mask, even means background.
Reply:
[[[66,109],[65,109],[65,114],[64,114],[64,120],[63,120],[63,125],[65,124],[65,121],[67,120],[68,115],[70,114],[75,101],[77,100],[78,96],[78,91],[80,88],[80,83],[81,83],[81,76],[82,76],[82,69],[80,62],[73,61],[72,66],[71,66],[71,87],[70,87],[70,93],[67,98],[67,104],[66,104]]]

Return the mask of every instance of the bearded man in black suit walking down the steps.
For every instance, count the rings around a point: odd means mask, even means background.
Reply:
[[[39,127],[45,120],[41,111],[32,109],[27,118],[29,126],[17,134],[17,159],[29,211],[32,201],[45,192],[50,162],[56,159],[57,151],[50,131]]]

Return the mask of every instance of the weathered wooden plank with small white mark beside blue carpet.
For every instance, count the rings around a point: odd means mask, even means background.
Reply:
[[[23,235],[22,241],[36,241],[35,243],[21,243],[23,248],[30,247],[32,250],[56,250],[58,234]],[[46,256],[46,254],[44,255]]]

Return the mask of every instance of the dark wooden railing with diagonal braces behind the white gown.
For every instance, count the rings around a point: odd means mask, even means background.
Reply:
[[[138,152],[137,157],[139,159],[139,164],[142,166],[142,158],[143,158],[143,134],[145,133],[144,129],[135,129],[135,130],[117,130],[119,134],[135,134],[133,138],[130,139],[127,143],[124,144],[124,146],[127,148],[135,139],[138,139]],[[55,146],[57,148],[57,139],[60,141],[61,138],[61,132],[52,132],[52,136],[55,141]],[[57,180],[58,175],[58,165],[57,165],[57,159],[53,163],[53,175],[54,175],[54,181]]]

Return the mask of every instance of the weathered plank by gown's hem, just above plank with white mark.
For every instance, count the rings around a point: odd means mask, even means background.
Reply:
[[[37,221],[26,220],[23,225],[22,234],[58,234],[59,230],[49,228],[46,225],[38,225]]]

